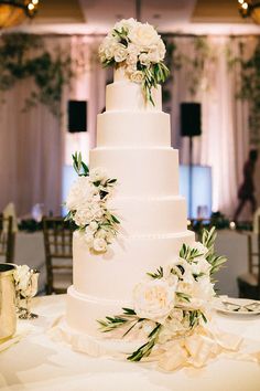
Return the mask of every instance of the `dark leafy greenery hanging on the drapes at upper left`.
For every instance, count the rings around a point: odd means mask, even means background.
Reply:
[[[69,54],[61,50],[52,54],[40,35],[3,34],[0,39],[0,92],[22,80],[34,81],[35,91],[26,98],[24,109],[42,103],[59,116],[63,87],[73,77],[71,65]]]

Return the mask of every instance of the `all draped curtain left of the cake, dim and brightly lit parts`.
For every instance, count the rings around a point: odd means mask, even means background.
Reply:
[[[88,150],[95,145],[96,117],[105,105],[106,72],[97,62],[100,39],[87,36],[45,36],[51,53],[71,53],[76,77],[64,88],[62,117],[40,104],[22,112],[25,97],[35,89],[32,80],[22,81],[1,94],[0,98],[0,211],[14,202],[18,215],[30,214],[35,203],[44,213],[61,213],[62,172],[64,163],[72,163],[72,152]],[[67,133],[67,101],[88,102],[87,133]]]

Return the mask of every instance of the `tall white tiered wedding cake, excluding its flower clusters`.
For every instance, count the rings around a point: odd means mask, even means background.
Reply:
[[[72,328],[91,336],[100,336],[97,319],[131,306],[133,287],[145,273],[169,264],[183,243],[194,242],[178,194],[178,155],[171,148],[160,86],[152,97],[154,106],[144,99],[141,85],[119,68],[107,86],[106,112],[98,115],[89,166],[105,167],[117,178],[110,208],[121,224],[105,254],[90,253],[83,234],[74,234],[66,318]]]

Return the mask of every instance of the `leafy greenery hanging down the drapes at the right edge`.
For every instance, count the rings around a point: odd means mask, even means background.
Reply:
[[[246,57],[246,42],[238,42],[239,54],[235,55],[231,47],[234,38],[227,46],[227,61],[229,68],[240,66],[239,82],[237,83],[236,97],[249,103],[249,129],[250,145],[260,145],[260,38],[256,36],[256,46],[252,53]]]

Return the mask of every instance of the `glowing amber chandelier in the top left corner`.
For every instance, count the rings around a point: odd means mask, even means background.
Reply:
[[[0,0],[0,29],[21,24],[37,12],[39,0]]]

